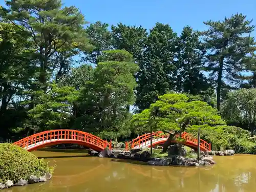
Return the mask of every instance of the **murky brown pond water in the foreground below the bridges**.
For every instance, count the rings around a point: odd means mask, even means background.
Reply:
[[[60,150],[61,151],[61,150]],[[254,192],[256,156],[215,156],[207,167],[148,166],[77,152],[33,152],[57,164],[46,183],[3,192]]]

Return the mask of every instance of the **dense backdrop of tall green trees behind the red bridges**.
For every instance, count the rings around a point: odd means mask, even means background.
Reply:
[[[143,116],[168,93],[208,103],[221,122],[254,135],[256,47],[245,15],[209,20],[202,32],[185,26],[180,35],[161,23],[86,24],[58,0],[0,7],[2,140],[51,129],[127,138],[144,126],[134,126],[130,109]]]

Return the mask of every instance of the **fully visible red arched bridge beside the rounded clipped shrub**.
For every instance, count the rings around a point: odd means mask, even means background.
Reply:
[[[108,142],[90,133],[77,130],[51,130],[40,132],[13,144],[23,147],[27,151],[34,151],[45,146],[63,143],[84,145],[98,152],[104,150],[106,147],[112,148],[111,141]]]

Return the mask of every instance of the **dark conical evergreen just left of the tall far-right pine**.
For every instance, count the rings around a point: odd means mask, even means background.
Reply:
[[[184,27],[179,37],[178,52],[178,92],[191,95],[204,95],[210,83],[202,73],[202,59],[206,50],[199,41],[199,32],[194,32],[189,26]]]

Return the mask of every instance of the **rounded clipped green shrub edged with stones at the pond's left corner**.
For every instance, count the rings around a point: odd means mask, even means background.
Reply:
[[[0,143],[0,154],[0,182],[2,183],[7,180],[16,183],[19,179],[28,180],[31,175],[40,177],[47,172],[53,172],[53,167],[49,167],[44,159],[38,159],[19,146]]]

